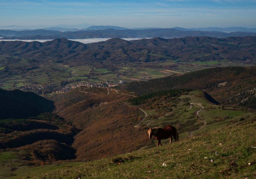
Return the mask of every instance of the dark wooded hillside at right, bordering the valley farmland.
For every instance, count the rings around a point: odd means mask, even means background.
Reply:
[[[199,70],[146,82],[128,83],[121,88],[136,94],[148,94],[176,88],[204,89],[218,102],[237,104],[239,101],[235,100],[234,96],[238,95],[245,99],[255,95],[253,93],[255,83],[256,67],[225,67]],[[248,96],[241,95],[247,90],[253,91],[248,93]]]

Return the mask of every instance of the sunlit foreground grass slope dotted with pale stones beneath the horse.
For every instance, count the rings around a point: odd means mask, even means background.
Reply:
[[[26,168],[14,171],[13,175],[47,179],[254,178],[255,128],[255,122],[245,122],[161,147],[80,164],[62,163]]]

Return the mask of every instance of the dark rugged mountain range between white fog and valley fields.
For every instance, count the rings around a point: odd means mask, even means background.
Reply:
[[[1,41],[0,55],[27,59],[53,59],[65,63],[181,61],[246,61],[256,59],[256,37],[151,38],[126,41],[113,38],[84,44],[66,39],[47,42]],[[72,63],[73,63],[72,62]]]

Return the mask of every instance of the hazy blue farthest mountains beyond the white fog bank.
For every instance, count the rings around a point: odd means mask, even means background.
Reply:
[[[113,27],[113,26],[111,26]],[[102,29],[104,27],[94,26],[87,30],[78,31],[66,31],[61,32],[58,30],[0,30],[1,39],[19,39],[19,40],[35,40],[35,39],[84,39],[84,38],[181,38],[188,36],[207,36],[216,38],[225,37],[243,37],[243,36],[255,36],[253,32],[217,32],[217,31],[195,31],[195,30],[177,30],[177,29]],[[119,28],[119,27],[115,27]],[[120,27],[121,28],[121,27]],[[91,30],[93,29],[93,30]],[[102,30],[96,30],[102,29]]]

